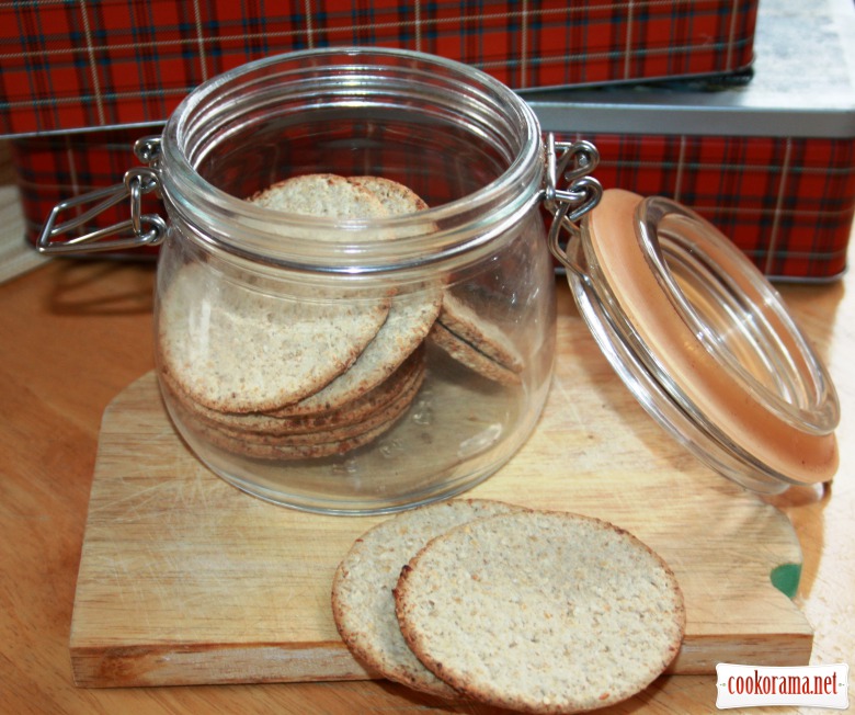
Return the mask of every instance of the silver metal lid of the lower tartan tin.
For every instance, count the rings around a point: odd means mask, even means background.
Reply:
[[[698,82],[526,91],[549,130],[855,138],[855,4],[763,0],[754,76]]]

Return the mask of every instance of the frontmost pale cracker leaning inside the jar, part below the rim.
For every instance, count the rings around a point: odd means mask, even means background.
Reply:
[[[167,370],[196,402],[266,411],[307,397],[360,356],[389,313],[388,298],[287,298],[182,266],[159,311]]]

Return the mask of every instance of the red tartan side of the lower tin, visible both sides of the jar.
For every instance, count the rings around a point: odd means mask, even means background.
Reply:
[[[27,238],[36,240],[59,201],[119,182],[138,163],[132,146],[145,134],[118,129],[15,139],[13,158]],[[584,138],[600,150],[595,175],[604,186],[670,196],[691,206],[767,275],[830,280],[845,271],[855,218],[855,139],[604,134]],[[448,171],[454,172],[452,164]],[[125,219],[127,212],[122,204],[87,230]]]

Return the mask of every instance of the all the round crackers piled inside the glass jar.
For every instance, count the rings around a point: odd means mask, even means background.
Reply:
[[[373,218],[428,204],[379,177],[306,174],[248,201],[309,216]],[[200,299],[200,296],[204,299]],[[226,452],[262,459],[341,455],[391,429],[413,405],[428,348],[499,385],[523,361],[502,331],[438,280],[371,300],[274,296],[181,266],[159,314],[164,391]]]

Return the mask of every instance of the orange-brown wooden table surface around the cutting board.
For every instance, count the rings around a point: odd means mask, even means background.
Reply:
[[[3,179],[0,173],[0,184]],[[0,242],[8,245],[21,226],[7,219],[18,215],[14,193],[0,196],[5,212]],[[385,681],[73,685],[69,626],[99,424],[107,404],[153,366],[153,264],[145,262],[54,260],[0,284],[0,711],[494,712],[449,706]],[[853,280],[780,286],[830,366],[843,412],[833,486],[775,499],[803,549],[796,600],[816,631],[817,665],[855,663],[855,292],[847,292]],[[570,305],[567,296],[562,305]],[[662,439],[669,439],[664,432]],[[710,712],[715,699],[715,677],[673,676],[609,712]]]

